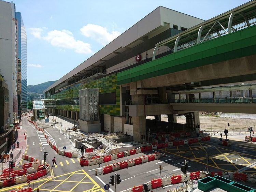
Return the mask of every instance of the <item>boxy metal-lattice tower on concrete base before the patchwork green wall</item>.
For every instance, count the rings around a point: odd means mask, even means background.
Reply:
[[[79,90],[80,131],[85,133],[100,132],[99,89],[85,88]]]

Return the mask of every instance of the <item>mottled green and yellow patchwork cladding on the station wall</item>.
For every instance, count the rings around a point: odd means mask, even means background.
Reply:
[[[79,90],[85,88],[98,88],[99,94],[103,93],[116,93],[116,104],[115,105],[100,105],[101,114],[109,114],[120,116],[120,87],[117,85],[117,76],[112,74],[88,83],[76,84],[59,93],[52,95],[53,99],[68,99],[78,98]],[[75,107],[75,108],[74,108]],[[57,109],[79,111],[79,105],[56,105]]]

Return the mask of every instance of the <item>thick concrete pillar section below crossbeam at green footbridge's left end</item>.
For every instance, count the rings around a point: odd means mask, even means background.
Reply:
[[[140,143],[143,142],[143,139],[141,139],[141,135],[146,135],[146,117],[133,116],[132,128],[133,128],[133,140]]]

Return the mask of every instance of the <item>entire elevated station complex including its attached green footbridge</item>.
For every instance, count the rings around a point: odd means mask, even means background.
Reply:
[[[207,21],[159,6],[45,89],[45,107],[54,115],[79,119],[83,126],[97,124],[102,131],[131,135],[137,142],[151,126],[146,116],[160,121],[160,115],[168,114],[168,127],[181,131],[175,117],[184,115],[186,130],[197,132],[198,111],[251,113],[254,84],[221,85],[256,81],[255,18],[255,1]],[[219,86],[223,90],[214,88]],[[79,91],[86,88],[97,88],[99,94],[88,95],[88,103],[81,105]],[[248,91],[247,96],[234,98],[232,91],[238,90]],[[223,97],[223,91],[230,94]],[[203,92],[214,95],[202,98]],[[84,120],[81,109],[85,113],[86,106],[91,118]]]

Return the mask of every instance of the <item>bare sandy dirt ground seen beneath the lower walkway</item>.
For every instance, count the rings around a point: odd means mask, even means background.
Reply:
[[[245,119],[245,118],[224,118],[224,117],[211,117],[211,116],[199,116],[201,129],[208,131],[218,131],[228,128],[228,123],[230,124],[230,129],[246,131],[248,127],[253,127],[255,130],[256,119]],[[154,119],[154,116],[147,116],[147,119]],[[162,115],[162,121],[168,121],[167,115]],[[184,116],[177,116],[177,123],[186,123]]]

